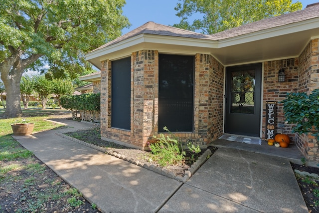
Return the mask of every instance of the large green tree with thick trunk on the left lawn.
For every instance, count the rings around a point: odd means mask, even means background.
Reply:
[[[0,77],[6,91],[2,117],[22,115],[20,79],[40,62],[68,69],[87,66],[85,52],[129,26],[125,0],[1,0]],[[37,63],[35,63],[37,62]]]

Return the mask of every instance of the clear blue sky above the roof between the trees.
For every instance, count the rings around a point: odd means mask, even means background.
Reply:
[[[303,9],[319,0],[299,0],[303,4]],[[177,17],[174,9],[179,0],[126,0],[123,7],[123,15],[129,18],[132,26],[122,30],[125,34],[133,29],[145,24],[148,21],[154,21],[159,24],[173,25],[179,23],[180,18]],[[181,2],[181,1],[180,1]],[[297,0],[293,0],[293,3]]]

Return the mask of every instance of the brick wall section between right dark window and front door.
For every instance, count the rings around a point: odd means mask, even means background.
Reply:
[[[205,143],[223,134],[223,82],[224,67],[211,55],[196,54],[195,126]]]

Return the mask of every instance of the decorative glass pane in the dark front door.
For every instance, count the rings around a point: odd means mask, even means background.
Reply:
[[[231,73],[231,113],[254,114],[255,70]]]

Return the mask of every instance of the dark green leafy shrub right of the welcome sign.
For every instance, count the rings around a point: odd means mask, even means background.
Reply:
[[[286,122],[296,124],[293,132],[312,133],[319,141],[319,89],[309,95],[305,92],[288,93],[281,103],[284,105]]]

